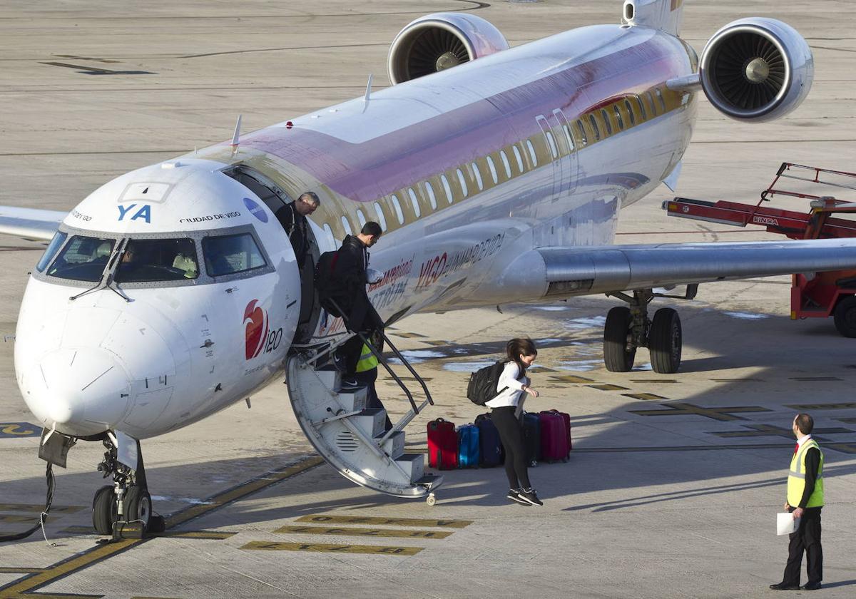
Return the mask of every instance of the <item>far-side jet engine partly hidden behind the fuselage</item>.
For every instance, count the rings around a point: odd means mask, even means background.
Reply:
[[[393,85],[508,50],[489,21],[464,13],[434,13],[401,30],[389,47],[387,71]]]

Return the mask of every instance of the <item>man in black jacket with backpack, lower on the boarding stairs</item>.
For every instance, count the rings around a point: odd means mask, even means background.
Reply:
[[[383,321],[377,315],[366,292],[366,269],[369,266],[368,248],[374,246],[380,239],[382,229],[377,222],[369,221],[356,235],[347,235],[342,240],[333,277],[336,279],[336,294],[331,298],[347,317],[346,325],[352,332],[359,331],[364,336],[372,335],[375,331],[383,331]],[[357,362],[360,360],[360,350],[363,341],[354,337],[342,345],[340,355],[344,359],[344,378],[354,378]]]

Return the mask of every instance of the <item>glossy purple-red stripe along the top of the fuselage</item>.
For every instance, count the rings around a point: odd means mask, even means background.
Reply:
[[[551,116],[561,108],[573,123],[592,107],[662,85],[687,74],[688,68],[686,54],[675,53],[675,44],[654,35],[642,44],[365,142],[350,143],[308,128],[276,127],[248,135],[241,144],[306,170],[348,199],[368,202],[538,133],[538,115]],[[370,109],[368,130],[372,118]]]

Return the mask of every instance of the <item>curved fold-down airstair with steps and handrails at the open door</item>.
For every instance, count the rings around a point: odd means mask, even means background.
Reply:
[[[366,407],[365,386],[342,382],[342,374],[331,359],[337,347],[359,335],[372,351],[378,365],[389,373],[410,401],[411,409],[390,430],[385,429],[386,410]],[[433,506],[434,490],[443,477],[425,472],[425,454],[407,454],[404,428],[425,407],[432,406],[425,381],[383,335],[386,346],[419,383],[425,400],[417,405],[413,393],[390,367],[387,359],[364,335],[349,333],[336,341],[315,347],[298,347],[286,361],[286,384],[294,415],[318,454],[342,476],[368,489],[401,497],[425,497]],[[409,377],[408,377],[409,378]]]

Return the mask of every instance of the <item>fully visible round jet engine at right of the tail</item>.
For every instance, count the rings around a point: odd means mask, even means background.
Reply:
[[[710,38],[698,71],[717,110],[738,121],[764,122],[802,104],[814,79],[814,58],[787,23],[740,19]]]

